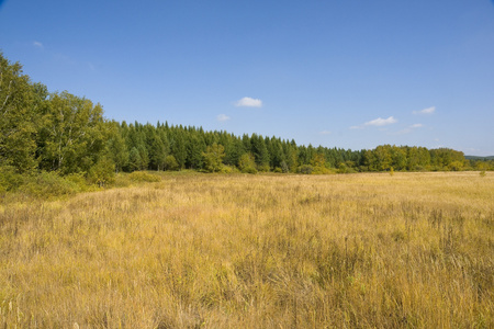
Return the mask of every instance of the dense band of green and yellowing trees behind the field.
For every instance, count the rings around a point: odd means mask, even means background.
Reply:
[[[116,172],[193,169],[206,172],[347,173],[492,170],[492,159],[448,149],[382,145],[372,150],[296,145],[258,134],[108,120],[103,109],[69,92],[48,92],[0,53],[0,172],[79,174],[98,183]]]

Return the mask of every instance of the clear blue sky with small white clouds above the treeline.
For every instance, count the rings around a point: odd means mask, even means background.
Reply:
[[[494,155],[489,0],[0,0],[0,49],[117,121]]]

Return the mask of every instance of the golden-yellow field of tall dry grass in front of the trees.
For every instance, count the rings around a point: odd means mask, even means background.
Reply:
[[[493,328],[494,175],[164,175],[0,205],[0,328]]]

